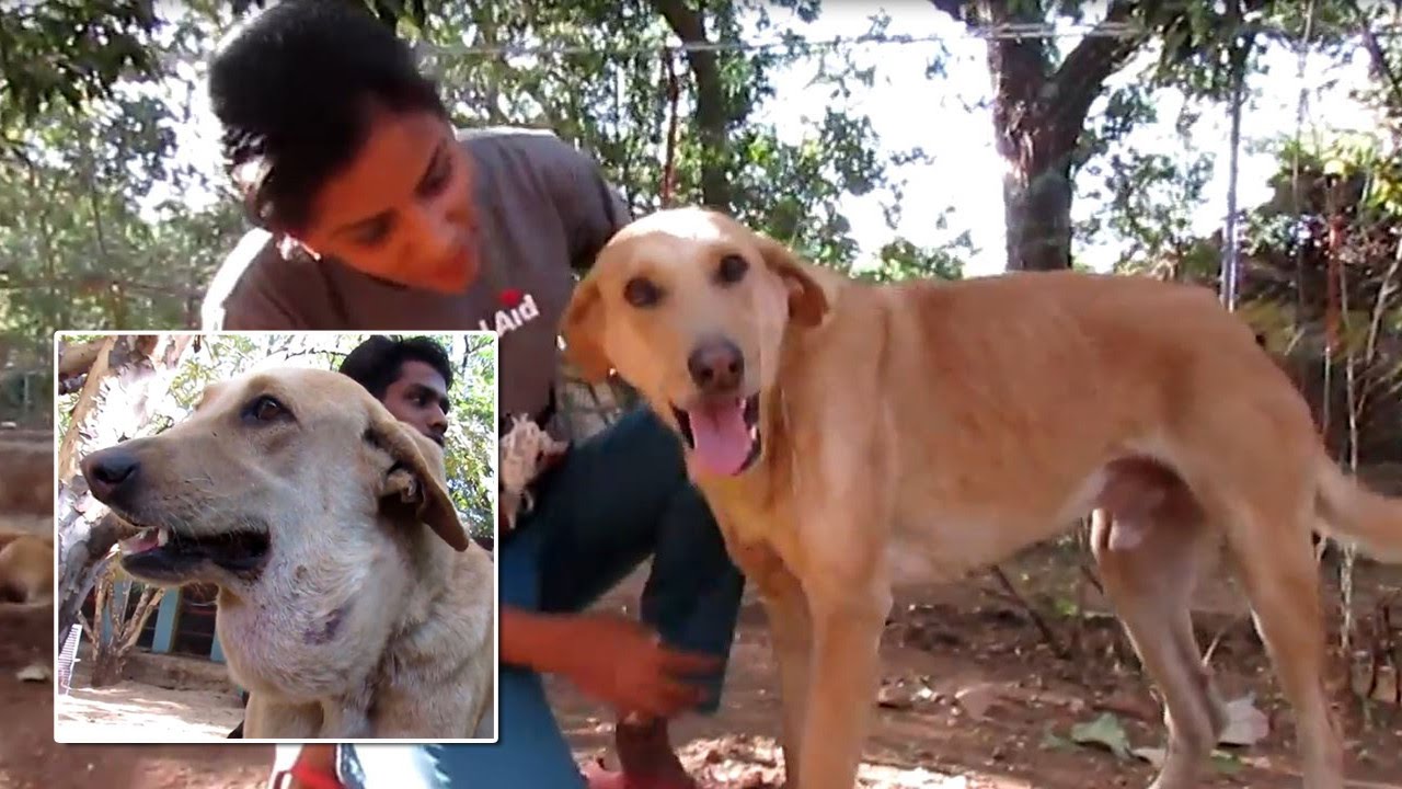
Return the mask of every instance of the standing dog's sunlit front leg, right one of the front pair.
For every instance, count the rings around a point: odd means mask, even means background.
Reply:
[[[831,576],[808,583],[813,622],[802,789],[852,789],[862,744],[880,687],[880,635],[890,588],[872,581],[841,584]]]

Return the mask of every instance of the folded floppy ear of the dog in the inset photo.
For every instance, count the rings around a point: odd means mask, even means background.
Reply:
[[[376,403],[379,406],[379,403]],[[465,550],[470,538],[453,500],[447,497],[443,456],[437,446],[394,418],[383,406],[370,411],[366,441],[388,455],[380,472],[379,497],[390,505],[412,505],[414,514],[456,550]]]

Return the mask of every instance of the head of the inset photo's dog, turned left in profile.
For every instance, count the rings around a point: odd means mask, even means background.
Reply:
[[[186,420],[93,452],[81,469],[135,532],[122,566],[156,584],[341,583],[331,578],[353,563],[373,573],[365,563],[423,525],[468,543],[442,449],[329,371],[216,383]]]

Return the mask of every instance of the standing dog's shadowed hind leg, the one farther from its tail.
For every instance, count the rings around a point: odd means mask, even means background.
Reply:
[[[1178,497],[1171,500],[1175,507],[1117,521],[1096,511],[1091,546],[1110,605],[1144,670],[1164,694],[1168,757],[1151,789],[1192,789],[1217,744],[1225,715],[1202,663],[1189,608],[1210,533],[1202,512],[1185,501],[1190,496],[1186,489],[1175,487],[1169,496]],[[1137,545],[1112,548],[1113,529],[1134,529]]]

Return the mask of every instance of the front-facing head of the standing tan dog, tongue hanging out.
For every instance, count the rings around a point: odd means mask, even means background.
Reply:
[[[785,334],[827,309],[782,244],[721,213],[676,209],[604,246],[562,334],[585,378],[618,371],[677,430],[694,475],[733,476],[761,456],[760,404]]]

